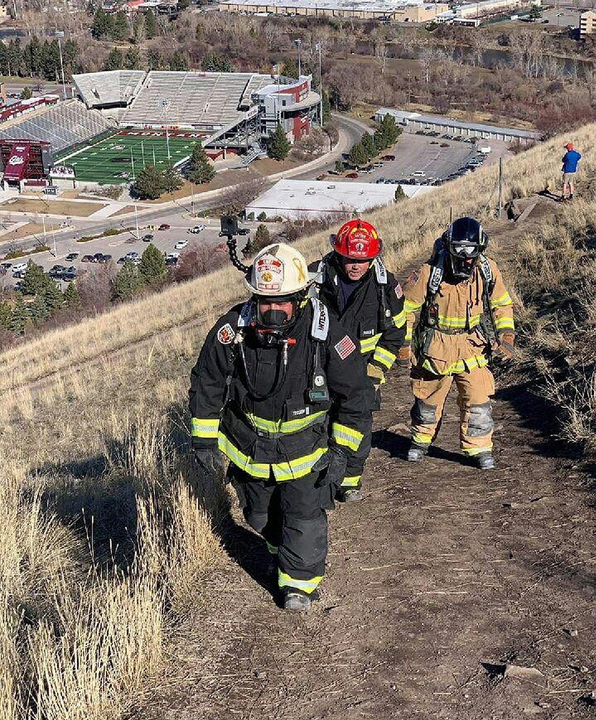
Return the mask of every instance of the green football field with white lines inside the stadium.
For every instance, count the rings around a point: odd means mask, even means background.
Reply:
[[[165,168],[168,163],[166,134],[155,132],[144,135],[112,135],[83,150],[68,153],[55,162],[74,168],[79,181],[101,184],[121,184],[131,182],[143,168],[153,165]],[[186,133],[185,135],[190,135]],[[194,135],[194,134],[193,134]],[[171,163],[177,163],[192,152],[194,138],[170,134]],[[134,163],[134,175],[133,175]]]

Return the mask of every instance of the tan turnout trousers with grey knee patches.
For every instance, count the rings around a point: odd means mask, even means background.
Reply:
[[[421,368],[410,374],[414,405],[412,443],[428,447],[441,425],[443,407],[453,382],[457,388],[460,413],[459,441],[464,455],[474,456],[492,450],[492,408],[490,397],[495,394],[495,380],[487,367],[465,372],[435,375]]]

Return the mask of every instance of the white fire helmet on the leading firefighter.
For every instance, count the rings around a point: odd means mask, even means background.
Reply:
[[[244,282],[253,295],[285,297],[306,289],[314,279],[302,253],[284,243],[274,243],[258,253]]]

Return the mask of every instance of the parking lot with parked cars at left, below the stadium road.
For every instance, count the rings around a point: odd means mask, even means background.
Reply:
[[[176,223],[176,224],[174,224]],[[130,221],[127,220],[127,225]],[[83,261],[86,256],[93,257],[96,255],[109,255],[108,261],[113,262],[119,268],[122,266],[124,258],[127,253],[137,253],[138,257],[143,254],[143,251],[149,243],[153,243],[158,250],[161,250],[166,256],[173,256],[175,253],[182,253],[186,247],[191,246],[193,243],[198,243],[202,247],[216,248],[225,243],[225,238],[220,238],[220,223],[216,220],[194,220],[190,217],[181,217],[180,215],[167,218],[164,220],[163,225],[168,225],[168,228],[158,230],[158,228],[148,228],[139,226],[139,233],[137,237],[136,225],[129,230],[123,230],[119,235],[111,235],[109,237],[97,238],[96,240],[89,240],[87,242],[77,242],[76,240],[61,240],[59,251],[57,256],[54,256],[50,252],[35,253],[30,257],[16,258],[9,262],[11,265],[6,269],[6,273],[0,276],[2,284],[4,286],[14,286],[19,281],[19,276],[13,276],[13,269],[19,264],[27,264],[31,259],[35,264],[42,266],[45,271],[49,271],[55,265],[64,266],[67,270],[73,268],[74,273],[67,274],[67,279],[61,277],[55,277],[55,280],[60,283],[61,289],[66,289],[68,279],[74,279],[76,276],[80,276],[82,272],[96,264],[96,261]],[[189,230],[197,225],[203,225],[204,230],[200,233],[191,233]],[[243,223],[246,225],[250,232],[254,231],[256,227],[255,223],[247,222]],[[158,226],[159,227],[159,226]],[[143,240],[143,238],[146,240]],[[245,244],[247,236],[238,238],[238,246],[242,248]],[[182,243],[187,243],[186,246],[181,247]],[[48,234],[48,244],[53,245],[51,235]],[[179,245],[176,248],[176,245]],[[222,248],[224,251],[224,248]],[[227,252],[227,248],[225,249]],[[76,258],[67,259],[67,256],[71,256],[71,253],[77,253]],[[120,263],[118,261],[121,260]]]

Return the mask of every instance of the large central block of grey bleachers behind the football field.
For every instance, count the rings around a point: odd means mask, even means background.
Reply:
[[[271,76],[253,73],[151,71],[120,124],[163,124],[162,102],[168,99],[168,124],[215,129],[240,120],[240,99],[270,83]]]

